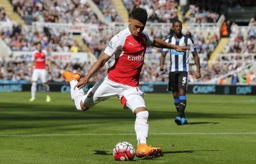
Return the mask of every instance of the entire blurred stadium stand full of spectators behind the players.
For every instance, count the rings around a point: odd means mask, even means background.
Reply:
[[[172,22],[183,22],[183,33],[194,41],[201,62],[196,79],[192,55],[189,83],[256,85],[255,11],[249,0],[10,0],[0,1],[0,82],[31,82],[31,54],[40,41],[47,51],[48,80],[64,82],[64,70],[85,75],[109,40],[127,27],[129,13],[143,7],[145,31],[165,40]],[[148,47],[142,82],[167,82],[160,72],[161,49]],[[74,57],[75,56],[75,57]],[[83,60],[81,60],[83,58]],[[90,81],[106,75],[112,58]]]

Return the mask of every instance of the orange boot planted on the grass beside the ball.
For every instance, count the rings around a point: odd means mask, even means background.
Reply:
[[[138,148],[135,152],[136,156],[139,158],[155,157],[156,155],[159,155],[160,153],[162,153],[162,148],[155,148],[155,147],[151,147],[150,145],[146,145],[146,144],[139,144]]]

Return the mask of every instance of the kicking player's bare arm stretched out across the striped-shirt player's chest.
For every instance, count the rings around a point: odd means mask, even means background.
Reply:
[[[174,45],[167,43],[163,41],[162,39],[155,38],[154,42],[152,43],[153,47],[158,47],[158,48],[169,48],[169,49],[175,49],[176,51],[186,51],[187,49],[190,49],[188,46],[181,46],[181,45]]]

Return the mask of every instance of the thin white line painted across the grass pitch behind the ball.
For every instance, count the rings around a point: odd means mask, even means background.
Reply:
[[[226,135],[256,134],[256,132],[220,132],[220,133],[149,133],[150,135]],[[135,133],[103,133],[103,134],[0,134],[0,137],[37,137],[37,136],[134,136]]]

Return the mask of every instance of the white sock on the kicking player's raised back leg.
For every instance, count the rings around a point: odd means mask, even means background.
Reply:
[[[75,106],[76,106],[77,110],[82,111],[82,108],[80,106],[80,102],[81,102],[82,96],[84,96],[84,90],[78,89],[77,87],[74,90],[75,85],[77,85],[77,83],[78,83],[76,80],[72,80],[69,83],[70,83],[70,86],[71,86],[71,89],[70,89],[71,99],[75,103]]]

